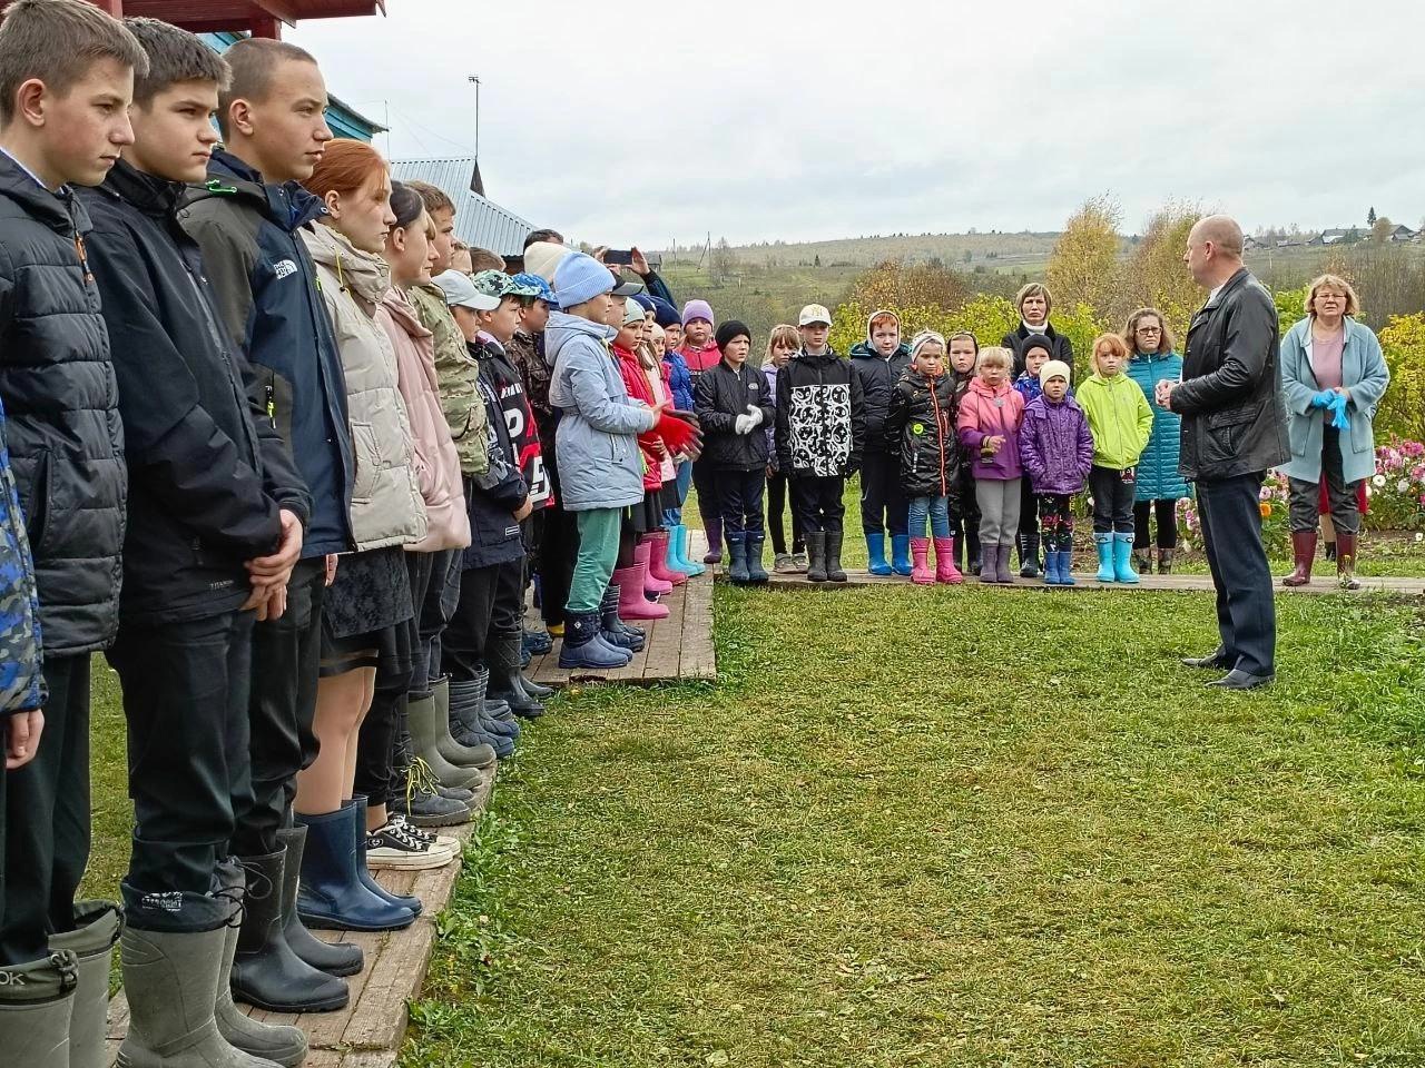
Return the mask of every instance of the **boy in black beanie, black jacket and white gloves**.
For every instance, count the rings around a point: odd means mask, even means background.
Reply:
[[[712,487],[731,557],[728,578],[738,585],[767,581],[762,545],[762,491],[767,488],[767,427],[775,419],[767,376],[747,365],[752,332],[740,322],[717,328],[722,359],[698,376],[693,402],[705,437],[703,459],[712,467]]]

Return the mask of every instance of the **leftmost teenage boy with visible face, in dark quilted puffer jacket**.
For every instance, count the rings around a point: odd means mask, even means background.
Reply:
[[[118,624],[125,474],[90,219],[70,187],[104,181],[133,141],[135,68],[147,61],[133,36],[80,0],[17,0],[0,26],[0,399],[48,686],[43,712],[0,718],[6,1064],[48,1062],[71,1030],[76,1057],[103,1057],[118,937],[113,906],[74,910],[90,846],[90,654]]]

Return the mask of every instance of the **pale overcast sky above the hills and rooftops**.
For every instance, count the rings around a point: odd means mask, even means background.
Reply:
[[[594,244],[1425,218],[1419,0],[386,0],[304,23],[396,158]]]

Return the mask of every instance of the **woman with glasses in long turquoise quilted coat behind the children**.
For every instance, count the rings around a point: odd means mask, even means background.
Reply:
[[[1129,375],[1153,409],[1153,434],[1139,460],[1133,487],[1133,560],[1139,571],[1153,574],[1149,520],[1156,518],[1159,574],[1166,575],[1177,551],[1177,503],[1190,493],[1177,467],[1183,417],[1159,404],[1153,394],[1159,382],[1183,377],[1183,357],[1173,352],[1173,332],[1156,308],[1140,308],[1130,315],[1123,340],[1133,353]]]

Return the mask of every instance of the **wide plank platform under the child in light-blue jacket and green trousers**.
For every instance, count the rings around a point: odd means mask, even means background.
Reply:
[[[668,607],[667,619],[640,622],[648,638],[626,668],[594,671],[560,668],[560,639],[543,656],[530,661],[524,674],[546,686],[567,686],[571,682],[627,682],[654,686],[660,682],[717,679],[717,654],[712,649],[712,571],[690,578],[660,604]],[[543,627],[536,618],[530,628]]]

